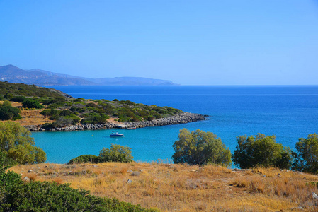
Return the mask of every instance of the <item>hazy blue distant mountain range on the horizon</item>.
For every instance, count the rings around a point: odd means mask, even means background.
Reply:
[[[40,69],[23,70],[13,65],[0,66],[0,81],[38,86],[173,86],[171,81],[142,78],[84,78]]]

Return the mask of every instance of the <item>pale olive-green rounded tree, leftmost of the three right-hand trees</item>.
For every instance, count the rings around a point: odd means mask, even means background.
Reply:
[[[204,132],[200,129],[190,132],[188,129],[181,129],[178,141],[173,147],[174,163],[232,165],[229,148],[226,148],[222,140],[212,132]]]

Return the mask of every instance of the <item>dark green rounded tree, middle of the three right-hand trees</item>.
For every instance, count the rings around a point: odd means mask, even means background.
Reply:
[[[237,148],[232,160],[241,168],[264,166],[290,169],[293,163],[290,148],[276,143],[276,136],[265,134],[237,137]]]

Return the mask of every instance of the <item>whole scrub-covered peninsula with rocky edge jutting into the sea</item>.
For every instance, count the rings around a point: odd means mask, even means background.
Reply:
[[[11,113],[0,119],[11,119],[30,131],[140,128],[205,119],[202,114],[172,107],[149,106],[129,100],[72,98],[59,90],[23,83],[0,82],[0,88],[0,109]],[[11,107],[16,108],[16,112]]]

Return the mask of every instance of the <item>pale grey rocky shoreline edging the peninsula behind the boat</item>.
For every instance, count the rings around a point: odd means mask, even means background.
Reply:
[[[182,114],[177,114],[172,117],[154,119],[152,121],[141,121],[141,122],[124,122],[120,124],[107,122],[105,124],[76,124],[73,126],[65,126],[60,128],[44,129],[42,125],[30,125],[25,126],[25,128],[30,131],[76,131],[76,130],[86,130],[86,129],[114,129],[114,128],[126,128],[135,126],[137,128],[142,128],[146,126],[164,126],[172,124],[186,124],[189,122],[198,122],[205,120],[207,115],[196,114],[190,112],[183,112]]]

